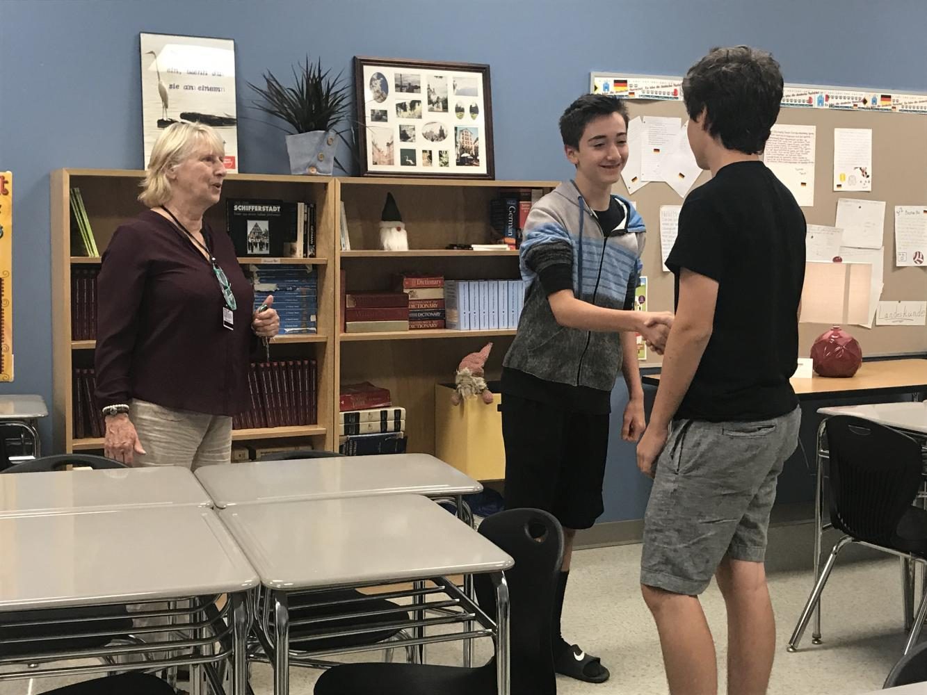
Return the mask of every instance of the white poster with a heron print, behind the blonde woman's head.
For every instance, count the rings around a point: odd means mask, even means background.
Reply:
[[[225,142],[225,168],[238,171],[235,42],[143,33],[139,44],[145,166],[159,134],[190,121],[216,129]]]

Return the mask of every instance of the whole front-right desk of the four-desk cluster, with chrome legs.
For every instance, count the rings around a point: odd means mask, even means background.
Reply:
[[[464,632],[426,638],[426,625],[447,625],[451,618],[446,614],[421,616],[414,622],[422,629],[418,633],[422,637],[403,644],[493,635],[499,695],[509,695],[509,599],[504,570],[513,560],[437,504],[415,495],[381,495],[241,504],[222,510],[220,515],[267,588],[259,622],[267,640],[264,649],[273,659],[275,695],[289,692],[288,593],[410,581],[416,588],[407,595],[417,605],[423,605],[425,594],[447,594],[450,600],[432,605],[459,607],[461,613],[454,622],[476,620],[484,629],[464,627]],[[492,576],[499,606],[495,623],[452,582],[443,579],[459,574]],[[438,589],[420,588],[420,582],[427,580],[434,581]],[[397,608],[397,612],[408,610],[408,606]],[[324,653],[329,652],[316,655]]]

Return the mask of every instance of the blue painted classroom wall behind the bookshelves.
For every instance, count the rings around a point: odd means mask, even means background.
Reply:
[[[559,179],[570,168],[556,120],[591,70],[678,75],[712,45],[746,43],[771,50],[788,82],[927,91],[924,26],[922,0],[0,0],[17,359],[0,393],[51,401],[49,172],[143,168],[139,32],[235,39],[238,113],[252,117],[239,125],[241,171],[287,172],[245,82],[286,75],[309,52],[347,75],[354,55],[489,63],[496,175]],[[630,464],[629,448],[613,445],[613,458]],[[611,469],[603,519],[639,517],[636,472]]]

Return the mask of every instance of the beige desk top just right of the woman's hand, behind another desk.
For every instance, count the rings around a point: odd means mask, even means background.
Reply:
[[[197,469],[197,478],[220,509],[372,495],[469,495],[483,489],[473,478],[428,454],[245,461],[203,466]]]

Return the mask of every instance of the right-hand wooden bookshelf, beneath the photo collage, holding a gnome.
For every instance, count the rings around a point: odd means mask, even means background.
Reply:
[[[489,201],[502,192],[559,185],[550,181],[465,181],[451,179],[339,178],[351,250],[336,245],[337,283],[346,273],[349,290],[389,289],[397,272],[435,272],[448,279],[514,279],[518,252],[471,251],[449,244],[493,243]],[[382,251],[380,213],[387,196],[395,199],[409,237],[409,251]],[[340,211],[338,212],[340,214]],[[337,229],[340,229],[338,220]],[[341,288],[338,287],[338,297]],[[340,326],[340,302],[336,307]],[[339,333],[336,392],[342,384],[370,381],[389,389],[393,404],[406,409],[409,451],[435,453],[435,385],[452,383],[460,360],[493,343],[487,378],[498,379],[502,358],[515,331],[421,330]],[[337,422],[338,404],[333,403]]]

